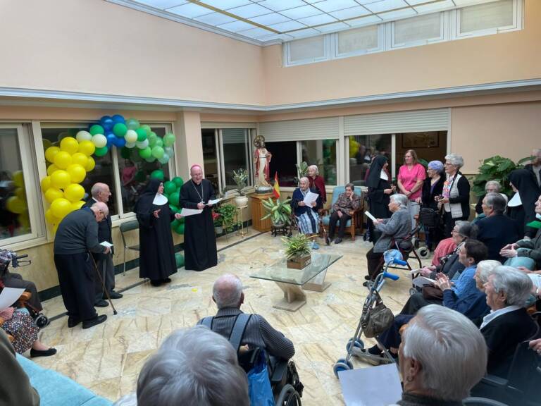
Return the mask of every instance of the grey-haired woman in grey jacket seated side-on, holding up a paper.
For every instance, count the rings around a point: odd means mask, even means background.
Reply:
[[[392,247],[393,241],[399,242],[411,231],[411,218],[408,211],[408,198],[404,195],[392,195],[389,202],[392,213],[390,219],[376,219],[375,230],[382,233],[375,242],[374,247],[366,253],[368,262],[368,275],[364,278],[369,281],[375,279],[381,271],[383,252]]]

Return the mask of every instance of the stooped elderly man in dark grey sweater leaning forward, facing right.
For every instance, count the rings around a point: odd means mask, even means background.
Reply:
[[[56,230],[54,264],[62,299],[68,309],[68,327],[82,321],[82,328],[103,323],[106,315],[94,310],[94,258],[89,252],[108,254],[109,247],[100,245],[98,223],[109,213],[107,204],[97,202],[68,214]],[[111,304],[112,305],[112,304]]]

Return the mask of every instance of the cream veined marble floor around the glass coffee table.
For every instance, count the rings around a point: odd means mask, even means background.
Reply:
[[[124,297],[111,307],[97,309],[107,314],[104,324],[82,330],[68,328],[68,318],[52,321],[40,332],[40,339],[58,349],[54,357],[37,358],[42,367],[54,369],[98,395],[110,400],[135,390],[137,374],[163,338],[182,327],[194,326],[204,316],[216,314],[211,300],[212,285],[223,273],[235,273],[244,284],[244,312],[258,313],[290,338],[296,353],[294,362],[304,383],[303,404],[343,405],[339,381],[332,372],[336,360],[345,355],[347,340],[359,322],[367,290],[366,252],[371,244],[358,237],[344,239],[340,245],[321,246],[320,252],[342,254],[330,266],[326,281],[332,283],[323,293],[306,291],[306,305],[297,312],[274,309],[282,297],[278,285],[250,278],[256,269],[275,262],[283,255],[280,237],[251,230],[247,238],[232,235],[218,239],[218,265],[203,272],[180,269],[173,282],[159,288],[143,283],[123,292]],[[413,266],[413,262],[412,262]],[[398,312],[407,297],[411,278],[401,278],[383,289],[387,307]],[[116,276],[117,289],[140,281],[138,270]],[[61,297],[44,303],[48,316],[66,312]],[[368,340],[370,341],[370,340]],[[354,360],[356,368],[368,367]]]

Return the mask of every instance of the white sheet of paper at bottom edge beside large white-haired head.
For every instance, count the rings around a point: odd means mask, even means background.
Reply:
[[[338,372],[347,406],[387,406],[402,398],[397,364]]]

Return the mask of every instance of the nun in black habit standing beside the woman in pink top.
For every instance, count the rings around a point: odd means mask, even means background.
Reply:
[[[387,157],[383,155],[375,156],[368,177],[366,178],[366,186],[368,186],[368,207],[370,213],[376,219],[389,219],[391,212],[389,211],[390,195],[392,194],[392,185],[389,173],[387,172]],[[371,242],[376,242],[381,233],[375,230],[371,219],[368,219],[368,231]]]

